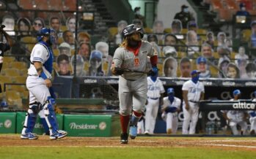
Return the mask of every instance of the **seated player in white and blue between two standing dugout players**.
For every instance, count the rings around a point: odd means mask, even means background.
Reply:
[[[167,97],[164,97],[162,118],[167,122],[167,134],[176,133],[178,129],[178,112],[180,112],[180,98],[175,97],[173,88],[167,89]]]

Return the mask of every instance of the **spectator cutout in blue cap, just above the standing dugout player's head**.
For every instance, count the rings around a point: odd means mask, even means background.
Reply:
[[[202,56],[197,58],[197,70],[200,71],[200,78],[211,77],[211,71],[209,70],[207,59]]]

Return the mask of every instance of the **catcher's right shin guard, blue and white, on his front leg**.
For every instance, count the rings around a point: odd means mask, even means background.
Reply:
[[[50,129],[50,134],[56,133],[58,131],[58,123],[56,120],[56,115],[54,112],[54,98],[48,98],[43,106],[43,110],[45,113],[45,120]]]

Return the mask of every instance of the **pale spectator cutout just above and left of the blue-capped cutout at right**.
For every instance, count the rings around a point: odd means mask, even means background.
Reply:
[[[195,58],[200,52],[200,47],[198,46],[197,33],[194,31],[188,31],[186,34],[186,44],[188,45],[186,52],[189,58]]]

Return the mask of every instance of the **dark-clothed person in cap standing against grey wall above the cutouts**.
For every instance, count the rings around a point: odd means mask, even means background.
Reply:
[[[181,11],[175,14],[175,17],[173,19],[178,19],[182,23],[182,27],[186,28],[187,24],[190,20],[194,20],[193,15],[189,12],[189,6],[186,6],[183,4],[181,6]]]

